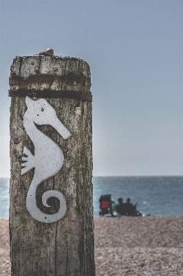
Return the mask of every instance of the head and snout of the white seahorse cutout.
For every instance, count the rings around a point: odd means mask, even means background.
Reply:
[[[45,99],[39,99],[37,101],[32,100],[30,97],[25,99],[28,110],[26,111],[29,119],[34,121],[37,125],[51,125],[58,133],[67,139],[71,135],[69,130],[63,126],[61,121],[56,115],[54,108]]]

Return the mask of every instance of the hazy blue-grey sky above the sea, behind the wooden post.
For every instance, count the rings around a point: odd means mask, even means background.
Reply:
[[[0,0],[0,12],[0,177],[12,60],[47,48],[89,63],[94,176],[183,175],[181,0]]]

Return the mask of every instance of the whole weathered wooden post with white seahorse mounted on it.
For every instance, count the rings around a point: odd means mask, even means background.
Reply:
[[[89,65],[82,59],[41,52],[13,60],[14,276],[95,275],[90,86]]]

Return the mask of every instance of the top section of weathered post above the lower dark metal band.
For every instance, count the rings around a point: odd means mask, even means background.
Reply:
[[[15,57],[10,68],[10,90],[89,92],[90,86],[89,66],[78,58],[39,55]]]

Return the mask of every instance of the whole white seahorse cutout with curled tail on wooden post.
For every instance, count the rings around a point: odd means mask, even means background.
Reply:
[[[50,207],[47,204],[47,199],[50,197],[57,197],[60,201],[58,212],[47,215],[36,204],[36,189],[43,180],[56,175],[61,170],[64,156],[61,148],[50,137],[36,128],[35,124],[53,126],[64,139],[69,138],[71,133],[63,126],[56,115],[56,111],[45,99],[34,101],[30,97],[26,97],[25,103],[28,110],[25,111],[23,117],[23,126],[34,144],[34,155],[26,146],[23,148],[23,154],[27,157],[22,157],[25,163],[21,164],[23,167],[21,175],[34,168],[34,177],[28,190],[26,207],[34,219],[51,223],[65,216],[67,210],[65,197],[58,190],[47,190],[43,193],[44,206]]]

